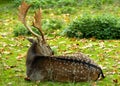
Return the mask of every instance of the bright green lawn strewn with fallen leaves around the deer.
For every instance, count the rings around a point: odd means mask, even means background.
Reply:
[[[120,8],[109,7],[112,6],[106,6],[104,10],[79,8],[80,11],[71,14],[69,20],[72,21],[76,16],[86,12],[108,12],[119,16]],[[51,13],[43,15],[45,19],[50,16]],[[63,14],[54,17],[65,19]],[[26,40],[27,36],[14,37],[13,28],[17,23],[20,23],[17,8],[12,4],[0,4],[0,86],[120,86],[120,40],[75,39],[62,36],[48,40],[57,55],[83,52],[101,66],[106,78],[96,82],[80,83],[25,81],[25,56],[30,43]]]

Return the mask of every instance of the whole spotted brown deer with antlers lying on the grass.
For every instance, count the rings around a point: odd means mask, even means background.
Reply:
[[[26,80],[87,82],[105,78],[101,67],[81,52],[72,55],[54,55],[42,32],[41,9],[35,12],[33,21],[33,27],[40,32],[40,35],[26,22],[30,6],[26,2],[22,2],[19,6],[20,21],[36,37],[36,39],[28,38],[32,44],[26,56]]]

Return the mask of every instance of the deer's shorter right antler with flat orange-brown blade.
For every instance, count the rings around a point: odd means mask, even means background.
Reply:
[[[42,32],[41,19],[42,19],[42,10],[40,8],[38,11],[35,12],[33,26],[39,30],[39,32],[41,33],[43,41],[46,42],[44,34]]]

